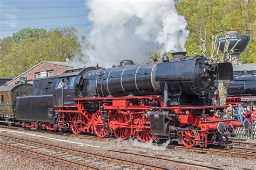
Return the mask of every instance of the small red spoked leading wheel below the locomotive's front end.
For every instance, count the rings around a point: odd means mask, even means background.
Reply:
[[[196,144],[197,134],[193,128],[190,131],[181,131],[181,143],[186,147],[193,147]]]

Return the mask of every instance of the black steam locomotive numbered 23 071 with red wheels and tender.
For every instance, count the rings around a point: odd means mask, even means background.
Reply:
[[[234,119],[215,116],[214,81],[232,80],[231,63],[173,53],[154,63],[68,70],[33,81],[33,94],[16,98],[16,119],[26,128],[94,133],[140,141],[177,138],[187,147],[228,144]],[[63,86],[65,82],[65,86]],[[226,140],[223,140],[223,136]]]

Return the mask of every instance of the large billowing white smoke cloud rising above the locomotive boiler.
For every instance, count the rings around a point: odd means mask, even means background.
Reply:
[[[92,30],[91,48],[84,48],[86,65],[110,67],[123,59],[142,62],[150,52],[184,50],[186,20],[174,1],[87,0]]]

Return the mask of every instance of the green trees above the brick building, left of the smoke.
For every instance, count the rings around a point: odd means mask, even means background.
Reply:
[[[66,56],[79,55],[80,45],[71,32],[72,28],[26,28],[0,39],[0,76],[15,77],[41,61],[65,61]]]

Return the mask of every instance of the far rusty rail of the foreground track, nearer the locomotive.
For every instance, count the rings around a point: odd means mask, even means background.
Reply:
[[[86,156],[94,157],[94,158],[99,158],[99,159],[103,159],[103,160],[115,161],[115,162],[118,162],[118,163],[137,166],[137,167],[142,167],[142,168],[167,169],[165,167],[161,167],[161,166],[157,166],[157,165],[150,165],[150,164],[145,164],[145,163],[142,163],[142,162],[126,160],[126,159],[121,159],[121,158],[116,158],[116,157],[110,157],[110,156],[107,156],[107,155],[101,155],[101,154],[92,153],[92,152],[79,151],[79,150],[75,150],[75,149],[68,148],[68,147],[61,147],[61,146],[57,146],[57,145],[51,145],[51,144],[41,143],[41,142],[38,142],[38,141],[32,141],[32,140],[28,140],[28,139],[20,139],[20,138],[15,138],[15,137],[9,137],[9,136],[5,136],[5,135],[2,135],[2,134],[0,134],[0,137],[6,138],[6,139],[14,139],[14,140],[17,140],[17,141],[22,141],[22,142],[25,142],[25,143],[35,144],[35,145],[39,145],[39,146],[55,148],[57,150],[82,154],[82,155],[86,155]],[[4,144],[4,145],[8,145],[8,144]],[[10,146],[12,146],[12,145],[10,145]],[[33,152],[33,151],[30,151],[30,152]]]

